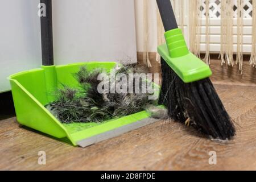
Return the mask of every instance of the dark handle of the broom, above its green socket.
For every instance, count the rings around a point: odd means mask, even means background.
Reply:
[[[156,0],[165,31],[178,28],[170,0]]]

